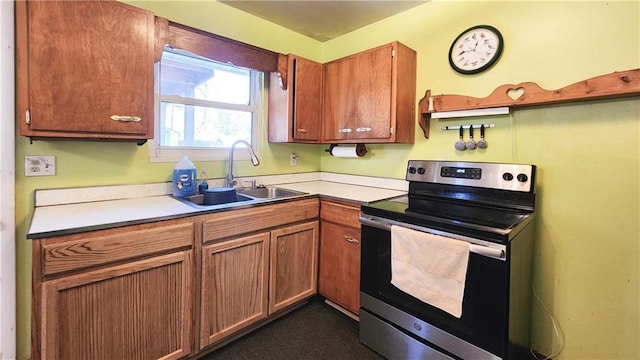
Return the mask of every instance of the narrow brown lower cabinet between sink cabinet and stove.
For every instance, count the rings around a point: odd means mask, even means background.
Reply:
[[[360,308],[360,205],[322,200],[318,292],[351,311]]]

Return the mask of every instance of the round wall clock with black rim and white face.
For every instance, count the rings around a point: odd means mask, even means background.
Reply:
[[[489,25],[474,26],[463,31],[451,44],[449,64],[461,74],[476,74],[498,61],[503,47],[498,29]]]

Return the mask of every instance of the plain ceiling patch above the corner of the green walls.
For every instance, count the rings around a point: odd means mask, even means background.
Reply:
[[[327,41],[429,0],[219,1],[313,39]]]

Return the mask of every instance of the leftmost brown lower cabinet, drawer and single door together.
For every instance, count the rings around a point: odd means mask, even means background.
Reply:
[[[32,358],[191,353],[193,220],[34,241]]]

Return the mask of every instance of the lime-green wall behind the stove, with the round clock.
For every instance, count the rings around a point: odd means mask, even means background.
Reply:
[[[503,84],[532,81],[557,89],[598,75],[640,68],[640,2],[433,1],[334,39],[331,60],[399,40],[418,53],[418,97],[488,96]],[[463,76],[447,53],[464,29],[498,28],[505,49],[488,71]],[[458,152],[444,125],[496,125],[486,150]],[[401,177],[406,160],[429,158],[538,166],[532,345],[559,359],[640,358],[640,100],[536,106],[511,116],[432,121],[431,138],[376,146],[369,160],[322,156],[322,171]],[[544,303],[544,305],[542,305]]]

